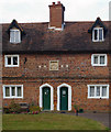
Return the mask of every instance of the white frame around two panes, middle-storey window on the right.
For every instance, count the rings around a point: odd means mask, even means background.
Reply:
[[[99,59],[98,64],[95,64],[95,62],[93,62],[95,56],[98,56],[98,59]],[[104,56],[104,64],[100,64],[100,56]],[[92,54],[91,55],[91,65],[92,66],[107,66],[107,64],[108,64],[107,54]]]

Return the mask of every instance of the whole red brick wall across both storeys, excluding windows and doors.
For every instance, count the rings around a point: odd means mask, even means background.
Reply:
[[[27,62],[24,65],[25,57]],[[108,55],[108,57],[110,56]],[[49,70],[49,61],[59,61],[58,72]],[[41,68],[38,68],[40,65],[42,66]],[[44,65],[46,65],[46,68]],[[64,67],[60,67],[62,65],[64,65]],[[68,65],[68,68],[66,65]],[[54,88],[54,108],[56,110],[57,87],[66,82],[71,86],[73,106],[79,105],[80,108],[87,111],[109,111],[109,99],[87,98],[87,85],[111,84],[109,80],[109,64],[107,67],[92,67],[91,54],[68,54],[68,56],[65,54],[20,55],[20,67],[5,68],[3,65],[3,77],[20,77],[14,79],[3,78],[3,85],[23,85],[23,99],[14,99],[16,102],[31,103],[35,101],[38,105],[40,86],[47,82]],[[81,79],[80,77],[85,78]],[[5,106],[5,103],[9,105],[10,101],[11,99],[4,99],[3,106]]]

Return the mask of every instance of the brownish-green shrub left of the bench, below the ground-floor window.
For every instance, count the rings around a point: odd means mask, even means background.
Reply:
[[[9,109],[11,112],[20,113],[21,112],[21,107],[19,103],[15,103],[14,101],[11,101]]]

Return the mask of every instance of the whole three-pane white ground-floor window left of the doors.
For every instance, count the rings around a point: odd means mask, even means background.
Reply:
[[[3,98],[23,98],[23,85],[3,85]]]

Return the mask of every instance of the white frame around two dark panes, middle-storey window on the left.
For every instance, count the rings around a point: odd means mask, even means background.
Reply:
[[[11,65],[8,65],[8,57],[11,57]],[[13,65],[13,57],[18,57],[18,65]],[[4,66],[5,67],[19,67],[20,59],[19,55],[4,55]]]

